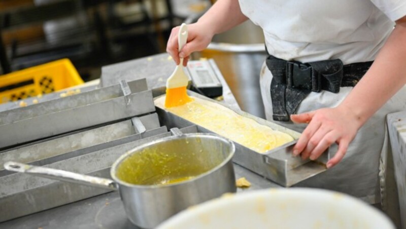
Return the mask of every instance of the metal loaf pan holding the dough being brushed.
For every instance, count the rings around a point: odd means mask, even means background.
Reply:
[[[202,96],[200,94],[191,91],[188,91],[188,94],[228,107],[222,103],[219,103],[216,100],[207,98],[205,96]],[[278,124],[275,124],[273,122],[269,122],[260,119],[258,117],[252,116],[244,111],[234,110],[230,107],[228,108],[243,117],[255,120],[259,124],[268,126],[274,130],[287,133],[294,138],[294,141],[286,143],[278,148],[269,150],[264,154],[260,154],[259,152],[249,149],[239,144],[238,142],[234,142],[236,152],[233,158],[233,162],[286,187],[292,186],[302,180],[306,180],[326,170],[325,164],[329,160],[328,149],[316,161],[310,160],[303,161],[301,160],[300,157],[293,157],[292,149],[294,144],[296,144],[297,139],[300,136],[300,133],[280,126]],[[167,126],[168,128],[173,127],[184,128],[187,126],[196,125],[195,123],[180,118],[179,116],[174,115],[173,113],[168,112],[160,107],[156,107],[156,111],[158,113],[160,123],[162,125]],[[212,131],[203,128],[199,125],[196,126],[199,132],[213,133]]]

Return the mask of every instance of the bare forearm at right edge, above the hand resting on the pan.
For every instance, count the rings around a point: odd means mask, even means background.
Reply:
[[[373,65],[340,106],[355,115],[361,127],[406,83],[406,17],[396,27]]]

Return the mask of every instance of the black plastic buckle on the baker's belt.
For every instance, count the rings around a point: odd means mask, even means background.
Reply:
[[[312,80],[313,67],[297,61],[286,62],[286,83],[291,88],[319,91],[319,79]]]

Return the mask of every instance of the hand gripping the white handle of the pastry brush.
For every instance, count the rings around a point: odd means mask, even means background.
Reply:
[[[186,66],[189,60],[189,55],[194,51],[201,51],[206,49],[212,38],[214,32],[210,29],[210,26],[206,26],[202,23],[196,22],[187,25],[188,37],[186,45],[179,52],[178,50],[178,32],[180,26],[172,29],[171,35],[169,36],[168,43],[166,45],[166,52],[169,53],[175,60],[176,64],[179,65],[180,58],[183,59],[183,65]]]

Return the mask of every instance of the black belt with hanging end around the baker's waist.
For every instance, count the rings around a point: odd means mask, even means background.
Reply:
[[[339,93],[340,87],[354,87],[373,61],[343,65],[340,59],[309,63],[266,58],[273,75],[270,96],[276,121],[289,121],[300,102],[310,92],[321,90]]]

